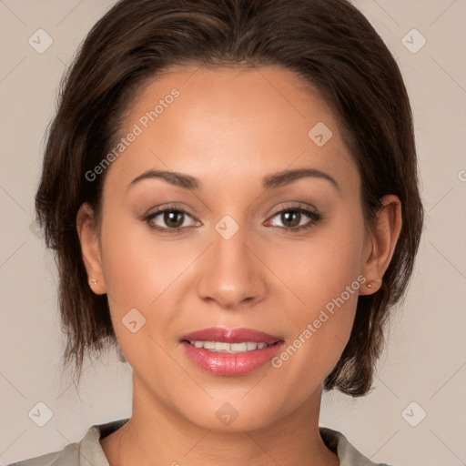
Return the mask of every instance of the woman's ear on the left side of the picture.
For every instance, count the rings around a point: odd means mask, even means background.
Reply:
[[[89,286],[97,295],[105,294],[106,285],[102,271],[95,214],[93,208],[86,202],[77,211],[76,229],[81,243],[81,253],[86,266]]]

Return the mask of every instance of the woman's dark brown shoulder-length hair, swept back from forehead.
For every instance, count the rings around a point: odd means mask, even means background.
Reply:
[[[92,28],[62,81],[35,197],[46,246],[56,250],[64,366],[75,362],[79,382],[85,350],[98,354],[117,345],[107,297],[88,286],[76,232],[84,202],[98,218],[106,173],[94,181],[85,174],[112,147],[137,89],[183,64],[278,65],[295,72],[339,118],[360,170],[365,221],[370,225],[384,195],[400,198],[400,238],[381,289],[359,297],[349,342],[324,381],[325,390],[366,394],[389,310],[410,279],[423,208],[399,67],[346,0],[121,0]]]

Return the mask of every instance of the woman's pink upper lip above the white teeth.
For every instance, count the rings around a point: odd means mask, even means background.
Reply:
[[[210,329],[202,329],[187,333],[181,337],[187,341],[219,341],[223,343],[241,343],[243,341],[255,341],[257,343],[267,343],[273,345],[277,341],[281,341],[279,337],[274,337],[263,331],[254,329],[221,329],[219,327],[211,327]]]

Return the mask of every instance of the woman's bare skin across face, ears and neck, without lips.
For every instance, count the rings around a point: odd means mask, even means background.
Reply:
[[[86,204],[77,215],[89,280],[97,280],[89,286],[107,294],[133,369],[132,417],[100,441],[112,466],[339,464],[319,436],[322,382],[349,339],[358,295],[380,288],[401,206],[382,198],[377,222],[365,227],[360,175],[337,120],[305,85],[279,66],[186,66],[151,80],[129,108],[122,137],[173,87],[180,92],[107,168],[101,223]],[[318,122],[332,131],[322,147],[308,137]],[[319,177],[263,189],[263,177],[299,167],[325,172],[339,189]],[[201,187],[152,178],[128,188],[148,169],[196,177]],[[188,214],[175,233],[144,220],[167,203]],[[299,206],[322,219],[289,231],[278,212]],[[215,229],[225,215],[239,227],[229,239]],[[163,214],[154,223],[170,228]],[[299,224],[309,223],[303,214]],[[376,281],[350,294],[280,368],[222,377],[180,346],[190,331],[246,327],[287,348],[359,276]],[[147,321],[132,333],[121,319],[135,308]],[[226,402],[238,411],[228,426],[216,416]]]

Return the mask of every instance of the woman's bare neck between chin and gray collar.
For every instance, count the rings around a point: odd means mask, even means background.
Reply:
[[[247,421],[235,420],[228,428],[211,429],[187,420],[133,381],[131,419],[101,441],[112,466],[339,465],[319,435],[320,387],[272,423],[248,429]]]

